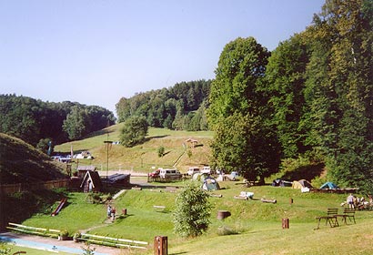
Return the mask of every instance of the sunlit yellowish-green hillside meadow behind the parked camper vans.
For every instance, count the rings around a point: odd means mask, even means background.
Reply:
[[[55,146],[55,152],[69,154],[71,146],[73,146],[75,153],[88,150],[92,153],[94,159],[79,159],[79,164],[93,164],[98,169],[106,170],[107,148],[104,141],[107,139],[111,141],[119,140],[122,125],[117,124],[106,128],[83,140]],[[156,168],[171,168],[176,165],[176,168],[180,171],[186,172],[190,166],[209,164],[209,143],[212,137],[213,133],[210,131],[188,132],[150,128],[146,142],[142,145],[134,148],[111,145],[108,150],[109,169],[134,169],[147,172],[153,166]],[[196,148],[189,148],[191,154],[186,153],[188,149],[187,138],[198,140]],[[161,146],[165,148],[166,155],[159,158],[158,148]],[[190,158],[188,155],[190,155]]]

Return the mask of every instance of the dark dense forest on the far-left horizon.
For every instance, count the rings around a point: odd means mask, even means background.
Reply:
[[[21,138],[44,148],[85,137],[87,134],[113,125],[112,112],[103,107],[86,106],[65,101],[51,103],[31,97],[0,95],[0,132]]]

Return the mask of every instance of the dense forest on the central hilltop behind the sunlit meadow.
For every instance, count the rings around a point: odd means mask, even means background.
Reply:
[[[175,86],[122,97],[116,104],[119,122],[146,117],[150,127],[176,130],[207,130],[206,109],[210,80],[176,83]]]

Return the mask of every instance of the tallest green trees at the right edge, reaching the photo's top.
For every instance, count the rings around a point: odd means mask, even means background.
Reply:
[[[308,120],[340,185],[373,190],[373,4],[327,0],[307,29]],[[310,121],[310,122],[311,122]],[[368,185],[367,185],[368,183]],[[370,187],[369,187],[370,186]]]

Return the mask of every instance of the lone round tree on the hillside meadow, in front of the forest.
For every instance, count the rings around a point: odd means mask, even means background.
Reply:
[[[121,144],[130,148],[143,143],[146,140],[147,128],[145,117],[134,116],[128,118],[121,130]]]

